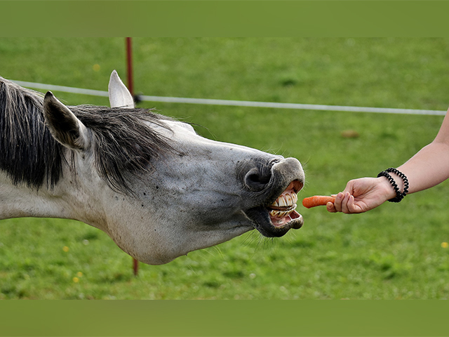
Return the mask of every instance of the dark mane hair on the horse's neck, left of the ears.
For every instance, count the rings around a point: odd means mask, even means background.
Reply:
[[[62,145],[43,123],[43,97],[0,77],[0,170],[14,184],[39,188],[58,183]]]

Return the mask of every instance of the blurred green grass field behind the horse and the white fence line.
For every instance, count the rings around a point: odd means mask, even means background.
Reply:
[[[447,110],[448,39],[133,39],[135,91],[228,100]],[[107,90],[124,39],[0,39],[0,76]],[[105,98],[58,93],[69,105]],[[300,159],[299,197],[399,166],[443,117],[140,103],[207,138]],[[343,131],[358,137],[344,138]],[[0,154],[1,155],[1,154]],[[73,220],[0,221],[0,299],[449,298],[448,182],[361,215],[299,207],[280,239],[257,232],[160,266]]]

